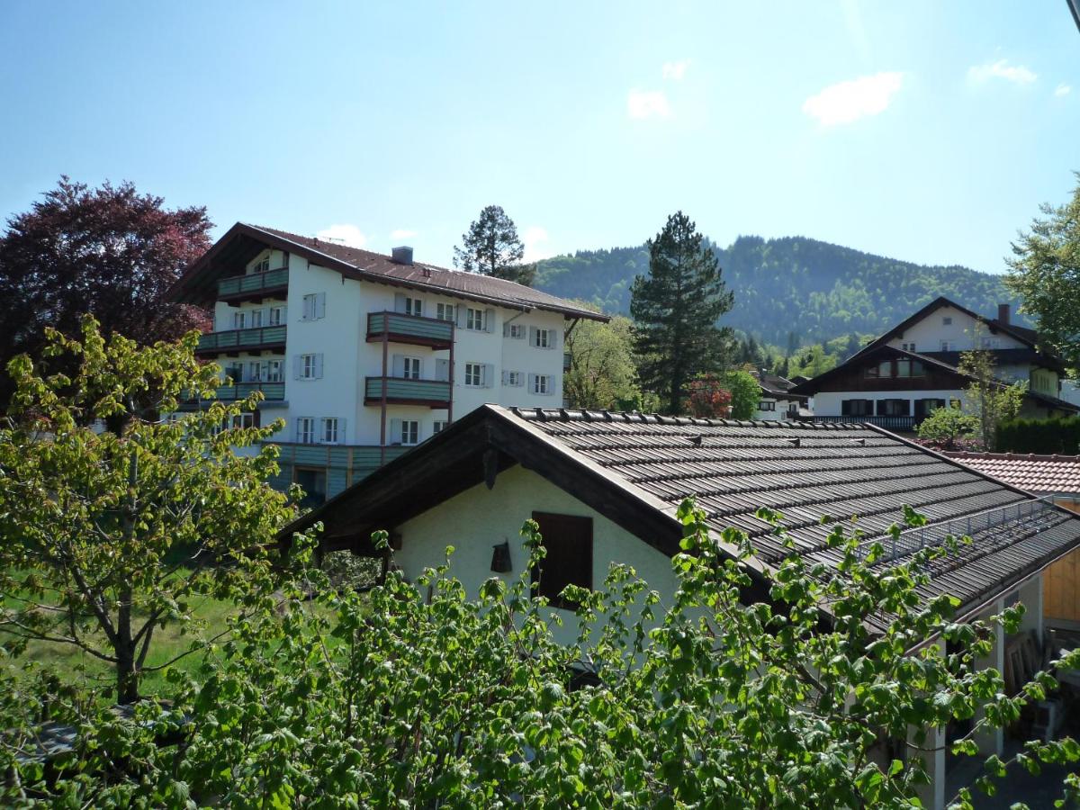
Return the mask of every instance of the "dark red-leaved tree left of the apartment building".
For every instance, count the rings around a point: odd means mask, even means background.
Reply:
[[[205,327],[206,313],[165,293],[210,246],[206,208],[167,210],[131,183],[100,188],[60,177],[0,237],[0,369],[24,352],[39,356],[45,327],[79,333],[91,313],[105,335],[139,343]],[[0,370],[0,410],[12,393]]]

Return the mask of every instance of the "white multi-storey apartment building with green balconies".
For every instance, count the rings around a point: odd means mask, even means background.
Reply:
[[[285,420],[276,484],[333,497],[484,403],[563,404],[564,336],[606,316],[513,282],[238,222],[177,282],[199,353]],[[197,407],[190,403],[188,407]]]

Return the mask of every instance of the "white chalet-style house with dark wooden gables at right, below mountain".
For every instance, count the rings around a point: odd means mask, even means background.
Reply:
[[[934,408],[963,402],[971,379],[958,368],[960,353],[973,349],[993,354],[1000,381],[1028,383],[1022,416],[1080,411],[1061,399],[1062,361],[1039,348],[1036,332],[1012,323],[1009,305],[991,319],[947,298],[928,303],[792,392],[813,397],[818,420],[872,421],[910,431]]]

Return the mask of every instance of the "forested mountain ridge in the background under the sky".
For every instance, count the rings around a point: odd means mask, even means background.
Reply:
[[[1017,303],[1000,276],[964,267],[927,267],[805,237],[740,237],[714,245],[734,307],[723,318],[758,340],[780,347],[859,334],[878,334],[940,295],[987,315],[999,302]],[[645,273],[645,246],[579,251],[539,262],[534,286],[592,301],[606,312],[630,311],[634,276]]]

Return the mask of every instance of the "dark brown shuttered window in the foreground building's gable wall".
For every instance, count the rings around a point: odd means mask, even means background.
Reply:
[[[553,607],[573,608],[562,596],[567,585],[593,588],[593,518],[534,512],[548,553],[532,569],[532,592]]]

